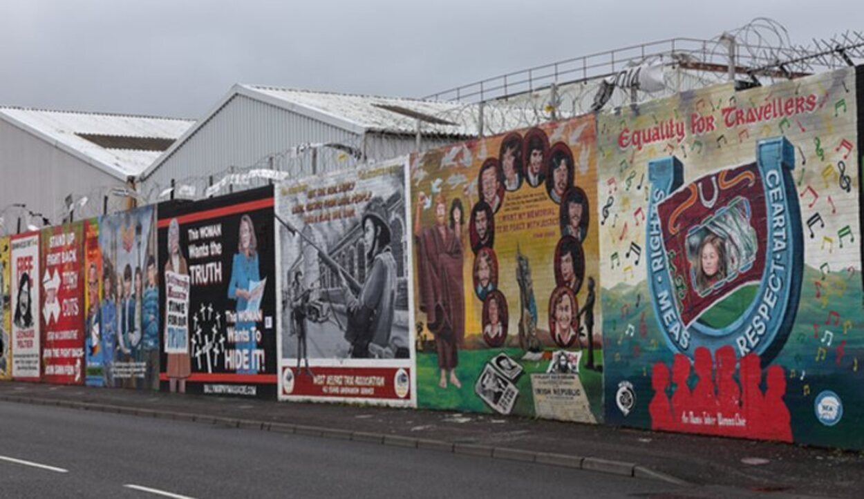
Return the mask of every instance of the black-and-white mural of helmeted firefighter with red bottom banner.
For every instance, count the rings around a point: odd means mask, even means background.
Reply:
[[[405,160],[279,186],[287,400],[411,405]]]

